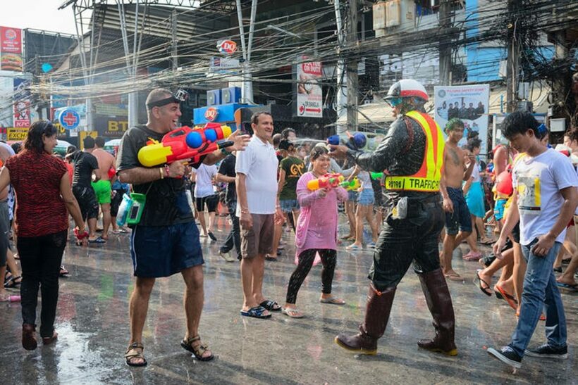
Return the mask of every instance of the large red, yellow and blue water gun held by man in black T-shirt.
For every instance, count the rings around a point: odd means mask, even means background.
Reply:
[[[201,156],[233,145],[226,139],[234,130],[219,123],[207,123],[204,127],[179,127],[165,134],[161,141],[149,141],[138,151],[138,161],[144,167],[173,163],[176,160],[192,160],[197,163]]]

